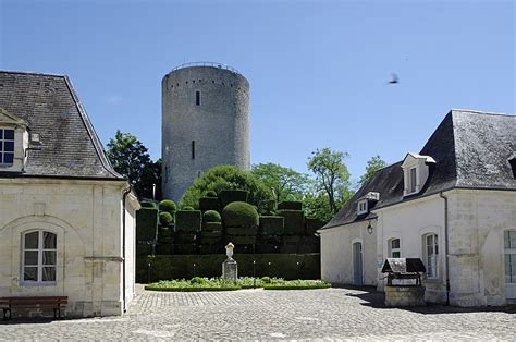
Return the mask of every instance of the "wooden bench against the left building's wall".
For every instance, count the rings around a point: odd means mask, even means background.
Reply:
[[[19,296],[0,297],[0,307],[3,310],[3,320],[12,318],[13,307],[52,308],[53,318],[61,318],[61,309],[66,307],[67,296]]]

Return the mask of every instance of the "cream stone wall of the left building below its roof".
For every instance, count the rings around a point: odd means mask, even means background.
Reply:
[[[0,180],[0,296],[66,295],[66,316],[121,315],[125,182]],[[127,200],[126,300],[134,293],[134,209]],[[22,233],[57,234],[57,281],[24,284]]]

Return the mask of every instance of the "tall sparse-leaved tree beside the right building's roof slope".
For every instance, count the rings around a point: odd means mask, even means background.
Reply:
[[[349,171],[344,159],[346,152],[333,151],[328,147],[317,149],[308,158],[308,169],[316,175],[317,191],[324,191],[333,215],[351,197]]]

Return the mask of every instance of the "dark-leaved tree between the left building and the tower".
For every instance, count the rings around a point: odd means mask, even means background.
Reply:
[[[131,133],[116,131],[108,143],[108,156],[113,169],[127,178],[139,197],[152,198],[153,184],[160,194],[161,160],[152,162],[148,149]]]

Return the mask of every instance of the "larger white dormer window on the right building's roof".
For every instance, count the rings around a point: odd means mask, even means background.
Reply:
[[[403,196],[419,193],[430,174],[429,166],[435,163],[430,156],[421,156],[417,154],[408,154],[402,163],[403,169]]]

